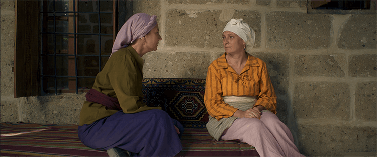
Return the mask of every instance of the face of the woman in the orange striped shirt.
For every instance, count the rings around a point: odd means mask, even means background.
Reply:
[[[230,31],[223,32],[223,45],[226,53],[244,53],[244,43],[237,34]]]

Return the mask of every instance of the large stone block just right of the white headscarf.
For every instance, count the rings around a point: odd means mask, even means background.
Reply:
[[[317,50],[331,45],[332,23],[329,15],[270,12],[266,23],[267,48]]]

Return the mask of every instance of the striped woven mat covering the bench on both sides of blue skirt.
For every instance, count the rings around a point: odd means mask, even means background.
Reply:
[[[2,122],[0,156],[108,156],[81,143],[77,125]],[[177,156],[259,156],[255,148],[236,141],[216,141],[207,129],[186,128]]]

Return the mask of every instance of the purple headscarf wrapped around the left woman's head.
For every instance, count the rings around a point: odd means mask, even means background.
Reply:
[[[131,16],[119,30],[111,55],[119,49],[127,47],[136,39],[144,37],[157,25],[156,18],[157,16],[155,15],[150,16],[145,13],[136,13]]]

